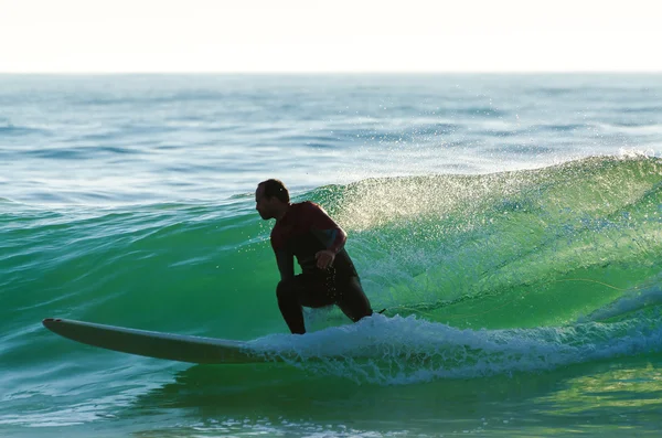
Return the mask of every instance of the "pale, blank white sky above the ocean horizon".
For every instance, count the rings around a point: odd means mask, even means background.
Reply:
[[[658,2],[0,0],[0,72],[662,72]]]

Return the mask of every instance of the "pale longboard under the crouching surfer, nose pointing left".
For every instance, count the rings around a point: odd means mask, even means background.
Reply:
[[[246,342],[160,333],[92,322],[49,318],[44,327],[84,344],[141,356],[192,363],[254,363],[273,361]]]

